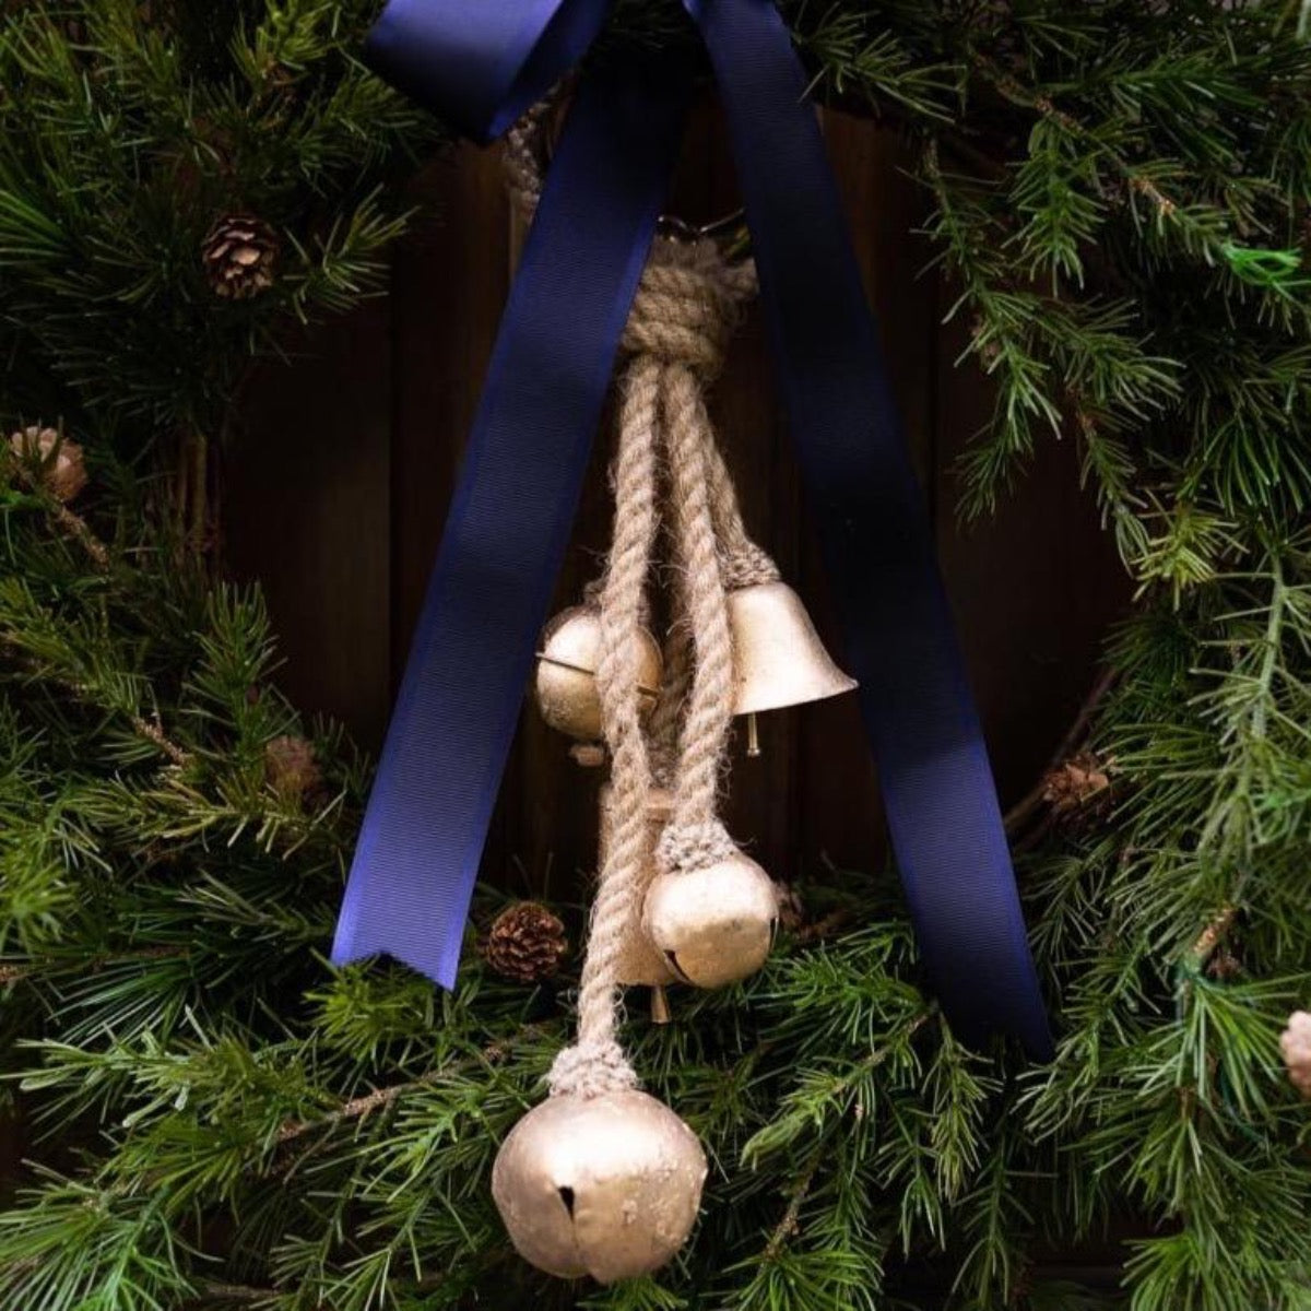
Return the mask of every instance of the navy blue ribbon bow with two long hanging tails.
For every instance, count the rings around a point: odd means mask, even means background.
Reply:
[[[683,0],[726,106],[783,395],[929,981],[970,1045],[1051,1044],[923,496],[805,72],[772,0]],[[608,0],[391,0],[368,58],[476,140]],[[333,960],[452,986],[535,638],[682,130],[686,75],[589,71],[501,321],[350,872]]]

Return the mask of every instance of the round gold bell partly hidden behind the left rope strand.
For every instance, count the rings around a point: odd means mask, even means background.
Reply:
[[[573,606],[547,624],[538,652],[538,708],[553,729],[579,742],[600,739],[599,661],[600,614],[594,606]],[[642,629],[638,691],[644,713],[656,705],[659,680],[659,645]]]

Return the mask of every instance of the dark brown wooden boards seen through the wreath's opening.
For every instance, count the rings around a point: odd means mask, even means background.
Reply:
[[[895,134],[840,114],[823,125],[1006,804],[1032,785],[1091,684],[1124,581],[1068,439],[1040,443],[994,519],[960,524],[953,465],[991,405],[977,366],[957,363],[969,325],[941,323],[953,294],[923,271],[926,201]],[[382,741],[518,236],[494,152],[460,148],[418,190],[433,216],[396,252],[389,296],[315,330],[291,364],[254,379],[224,490],[228,560],[265,585],[287,690],[370,749]],[[704,220],[733,205],[722,123],[707,104],[694,115],[673,207]],[[735,340],[712,410],[750,531],[839,652],[759,315]],[[577,599],[606,543],[608,448],[603,433],[560,606]],[[507,532],[513,515],[506,507]],[[856,699],[763,716],[762,739],[759,759],[737,751],[729,821],[775,877],[791,880],[821,856],[850,868],[881,861]],[[540,889],[551,867],[560,891],[594,859],[598,780],[572,763],[568,745],[526,708],[484,869],[503,886]]]

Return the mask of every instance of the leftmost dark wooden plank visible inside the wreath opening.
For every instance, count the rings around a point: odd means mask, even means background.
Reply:
[[[372,300],[257,370],[223,494],[225,561],[264,585],[278,682],[371,747],[391,703],[389,317]]]

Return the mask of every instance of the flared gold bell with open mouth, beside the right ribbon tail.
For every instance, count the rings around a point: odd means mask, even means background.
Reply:
[[[738,587],[728,599],[734,714],[821,701],[857,686],[832,662],[801,598],[785,582]]]

